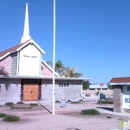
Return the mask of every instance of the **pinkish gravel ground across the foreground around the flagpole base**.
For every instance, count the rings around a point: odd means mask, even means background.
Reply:
[[[17,115],[21,119],[18,122],[4,122],[0,118],[0,130],[117,130],[121,119],[130,120],[130,117],[107,113],[81,115],[80,111],[75,110],[52,115],[42,106],[34,106],[32,109],[0,106],[0,113]]]

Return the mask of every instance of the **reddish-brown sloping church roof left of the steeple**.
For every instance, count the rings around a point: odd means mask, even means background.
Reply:
[[[16,51],[18,48],[20,48],[21,46],[23,46],[23,45],[24,45],[25,43],[27,43],[28,41],[29,41],[29,40],[27,40],[27,41],[24,42],[24,43],[18,44],[18,45],[16,45],[16,46],[13,46],[13,47],[7,49],[7,50],[4,50],[4,51],[0,52],[0,57],[6,55],[7,53]]]

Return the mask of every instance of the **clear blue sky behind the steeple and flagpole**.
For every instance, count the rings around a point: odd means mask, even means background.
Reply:
[[[0,51],[20,43],[25,3],[30,35],[52,61],[53,0],[0,0]],[[130,0],[56,0],[56,60],[93,83],[130,76]]]

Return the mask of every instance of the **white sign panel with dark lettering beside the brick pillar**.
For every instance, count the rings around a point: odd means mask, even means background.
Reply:
[[[130,85],[123,86],[123,108],[130,109]]]

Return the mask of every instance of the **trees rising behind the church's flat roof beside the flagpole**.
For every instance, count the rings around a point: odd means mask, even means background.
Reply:
[[[48,65],[52,67],[52,62],[47,61]],[[78,78],[82,76],[82,73],[77,73],[75,72],[77,70],[77,67],[75,68],[70,68],[70,67],[64,67],[63,63],[61,60],[58,60],[55,64],[55,71],[60,75],[60,76],[65,76],[65,77],[75,77]]]

